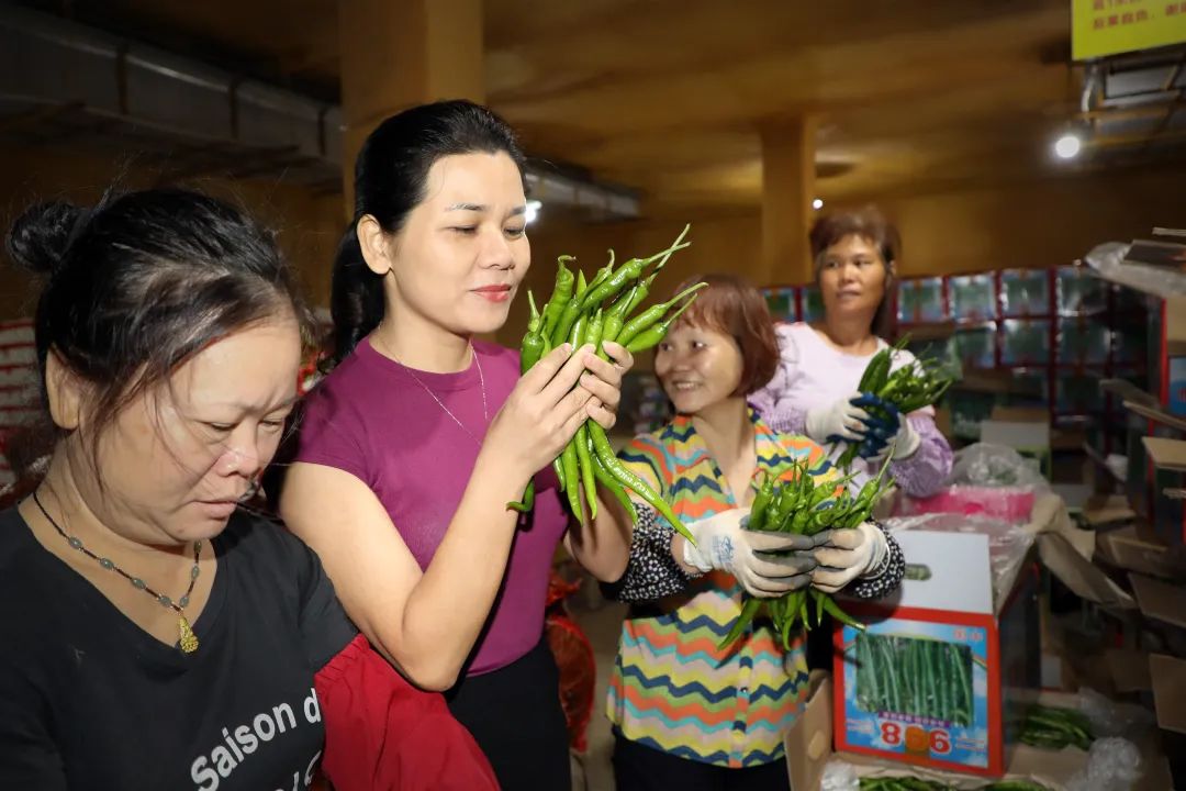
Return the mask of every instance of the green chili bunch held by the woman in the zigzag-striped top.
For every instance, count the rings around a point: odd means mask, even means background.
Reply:
[[[776,484],[779,476],[767,476],[763,481],[750,506],[750,522],[746,528],[802,536],[814,536],[824,530],[856,528],[868,521],[885,491],[882,480],[888,467],[888,463],[884,464],[876,477],[869,479],[856,497],[853,497],[848,489],[852,474],[840,480],[816,481],[808,472],[805,463],[793,463],[791,470],[795,474],[791,480]],[[831,595],[817,588],[801,588],[777,599],[747,599],[741,606],[741,615],[721,640],[721,648],[731,645],[741,637],[764,606],[783,638],[783,646],[788,649],[791,645],[792,630],[797,625],[810,630],[812,620],[818,626],[823,620],[823,613],[854,629],[865,629],[865,624],[841,610]]]

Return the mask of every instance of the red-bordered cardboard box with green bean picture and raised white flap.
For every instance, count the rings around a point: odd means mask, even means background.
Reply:
[[[1033,553],[994,597],[988,536],[900,530],[898,593],[844,608],[835,633],[837,749],[999,777],[1014,691],[1040,675]],[[996,601],[994,601],[996,599]]]

